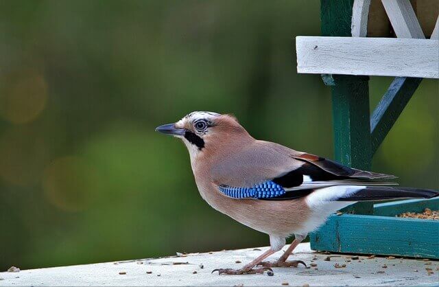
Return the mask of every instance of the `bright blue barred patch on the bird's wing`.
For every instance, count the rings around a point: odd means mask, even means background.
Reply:
[[[285,194],[281,185],[273,181],[265,181],[253,187],[232,187],[219,185],[219,191],[231,198],[274,198]]]

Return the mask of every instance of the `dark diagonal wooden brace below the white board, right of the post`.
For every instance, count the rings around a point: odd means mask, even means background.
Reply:
[[[422,80],[422,78],[396,77],[390,84],[370,117],[372,154],[375,154]]]

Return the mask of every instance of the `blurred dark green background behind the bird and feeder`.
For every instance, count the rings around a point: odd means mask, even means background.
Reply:
[[[190,111],[333,157],[331,96],[298,75],[319,1],[0,1],[0,270],[268,244],[211,209],[187,150],[154,133]],[[371,107],[391,78],[371,78]],[[437,188],[438,81],[373,170]]]

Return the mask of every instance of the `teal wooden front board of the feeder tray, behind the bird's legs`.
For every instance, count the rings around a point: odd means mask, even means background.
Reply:
[[[311,249],[439,258],[439,221],[388,216],[332,215],[317,233]]]

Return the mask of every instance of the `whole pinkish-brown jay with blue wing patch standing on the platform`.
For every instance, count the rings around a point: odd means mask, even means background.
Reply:
[[[348,205],[364,200],[439,195],[435,190],[395,186],[393,175],[350,168],[254,139],[230,114],[194,111],[178,122],[158,126],[156,131],[185,143],[198,191],[211,207],[270,237],[270,249],[242,268],[215,269],[220,275],[306,266],[305,262],[287,258],[309,232]],[[280,251],[293,235],[295,239],[278,260],[263,261]]]

